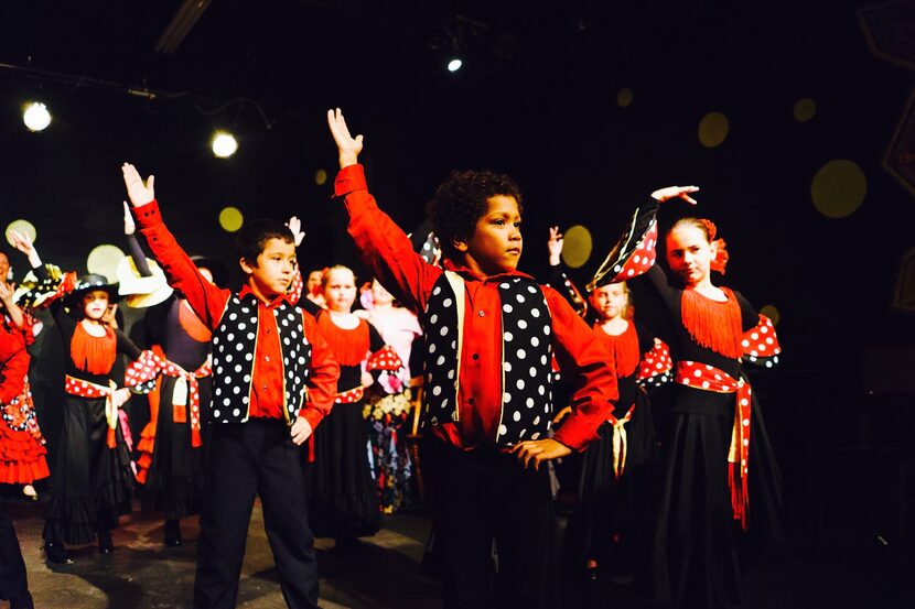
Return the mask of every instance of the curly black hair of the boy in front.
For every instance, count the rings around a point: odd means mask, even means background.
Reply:
[[[521,191],[507,175],[488,170],[453,171],[448,180],[439,185],[426,206],[426,215],[432,222],[432,229],[446,258],[460,257],[452,241],[469,239],[473,235],[476,221],[488,208],[486,202],[498,195],[515,197],[518,211],[524,211]]]

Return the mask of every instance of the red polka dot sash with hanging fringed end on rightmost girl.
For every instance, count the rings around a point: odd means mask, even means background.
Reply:
[[[750,504],[746,485],[750,471],[750,383],[743,379],[734,380],[723,370],[697,361],[678,362],[676,382],[702,391],[736,394],[731,448],[728,452],[728,486],[731,489],[734,520],[740,520],[741,526],[746,530],[746,512]]]

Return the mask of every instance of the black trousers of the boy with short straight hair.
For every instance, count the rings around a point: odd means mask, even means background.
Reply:
[[[214,424],[207,458],[194,607],[235,607],[257,493],[287,606],[316,608],[317,564],[301,454],[286,423]]]

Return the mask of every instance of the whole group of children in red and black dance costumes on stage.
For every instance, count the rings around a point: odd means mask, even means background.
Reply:
[[[234,607],[259,496],[287,605],[317,607],[315,535],[352,547],[381,514],[428,503],[444,607],[558,607],[561,565],[584,581],[632,575],[670,606],[739,605],[740,536],[757,525],[774,536],[781,500],[742,366],[771,366],[779,349],[765,317],[712,283],[726,262],[713,224],[660,231],[658,204],[695,203],[697,188],[656,191],[582,296],[558,228],[548,284],[517,270],[524,199],[512,178],[454,172],[439,186],[433,260],[369,194],[362,135],[338,109],[327,121],[334,204],[374,276],[362,287],[346,267],[300,267],[293,217],[243,227],[244,281],[226,289],[226,267],[185,253],[153,176],[129,163],[119,282],[45,264],[8,231],[31,270],[14,286],[0,252],[0,483],[35,498],[33,482],[51,477],[46,559],[69,563],[67,544],[115,552],[136,496],[163,514],[169,546],[200,514],[193,606]],[[143,309],[133,340],[118,328],[121,300]],[[660,315],[637,308],[649,301]],[[46,406],[63,418],[50,468],[28,382],[41,309],[65,346],[66,398]],[[672,403],[653,405],[670,381]],[[150,420],[133,446],[122,406],[140,394]],[[574,498],[562,537],[556,468]],[[0,598],[32,607],[2,511],[0,557]]]

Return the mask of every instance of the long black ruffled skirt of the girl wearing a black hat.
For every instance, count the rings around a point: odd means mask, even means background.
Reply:
[[[92,543],[118,526],[130,511],[133,470],[120,422],[117,446],[108,447],[105,400],[66,395],[63,428],[51,474],[43,536],[68,544]]]

